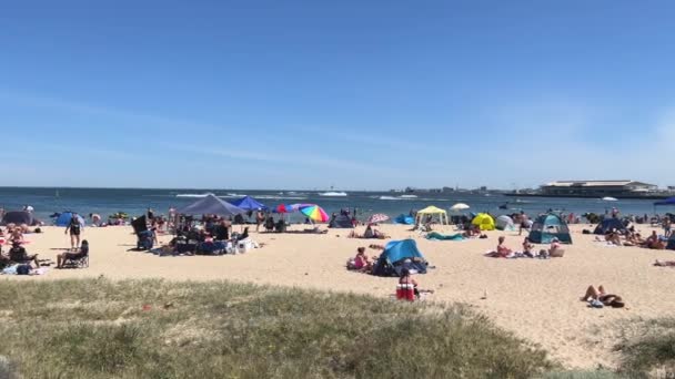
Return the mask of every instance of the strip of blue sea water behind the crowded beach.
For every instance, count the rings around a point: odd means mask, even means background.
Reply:
[[[117,212],[130,215],[142,215],[148,207],[158,214],[167,214],[171,206],[188,205],[205,193],[214,193],[225,201],[233,201],[243,195],[250,195],[261,203],[272,207],[278,204],[313,203],[321,205],[329,214],[341,208],[359,208],[362,216],[373,213],[384,213],[391,217],[407,214],[411,209],[421,209],[429,205],[449,209],[455,203],[466,203],[471,206],[467,212],[490,212],[494,215],[520,212],[536,215],[547,209],[561,209],[565,213],[583,214],[594,212],[603,214],[613,206],[624,215],[654,214],[654,201],[619,199],[603,202],[593,198],[553,198],[523,197],[516,199],[503,195],[484,195],[470,193],[415,194],[417,197],[406,197],[409,194],[390,192],[347,192],[347,196],[322,196],[320,192],[306,191],[255,191],[255,190],[134,190],[134,188],[34,188],[34,187],[0,187],[0,207],[6,211],[19,211],[24,205],[31,205],[36,215],[49,222],[49,215],[56,212],[73,211],[82,215],[100,214],[103,219]],[[518,203],[515,203],[520,201]],[[510,202],[511,209],[500,209],[500,205]],[[656,209],[661,213],[671,209]],[[292,221],[301,221],[301,215]]]

